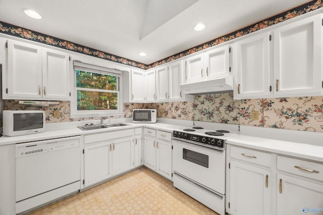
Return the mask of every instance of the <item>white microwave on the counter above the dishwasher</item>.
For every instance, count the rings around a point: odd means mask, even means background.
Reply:
[[[45,131],[45,111],[4,110],[3,135],[19,136]]]

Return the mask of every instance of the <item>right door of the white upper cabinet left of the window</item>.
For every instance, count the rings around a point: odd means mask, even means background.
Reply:
[[[42,49],[42,92],[43,98],[70,98],[69,55],[67,53]]]

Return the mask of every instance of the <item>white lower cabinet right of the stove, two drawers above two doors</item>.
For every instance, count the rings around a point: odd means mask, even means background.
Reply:
[[[323,164],[228,145],[229,214],[323,214]]]

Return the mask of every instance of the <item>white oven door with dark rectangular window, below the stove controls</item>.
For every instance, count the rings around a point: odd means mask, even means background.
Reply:
[[[173,140],[174,172],[221,194],[225,194],[225,165],[224,151]]]

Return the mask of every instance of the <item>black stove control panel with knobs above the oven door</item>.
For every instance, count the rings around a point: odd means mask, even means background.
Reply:
[[[224,148],[225,140],[213,137],[201,136],[191,133],[185,133],[181,131],[173,131],[173,137],[180,140],[190,140],[194,142],[199,142],[200,144],[210,145],[218,148]]]

